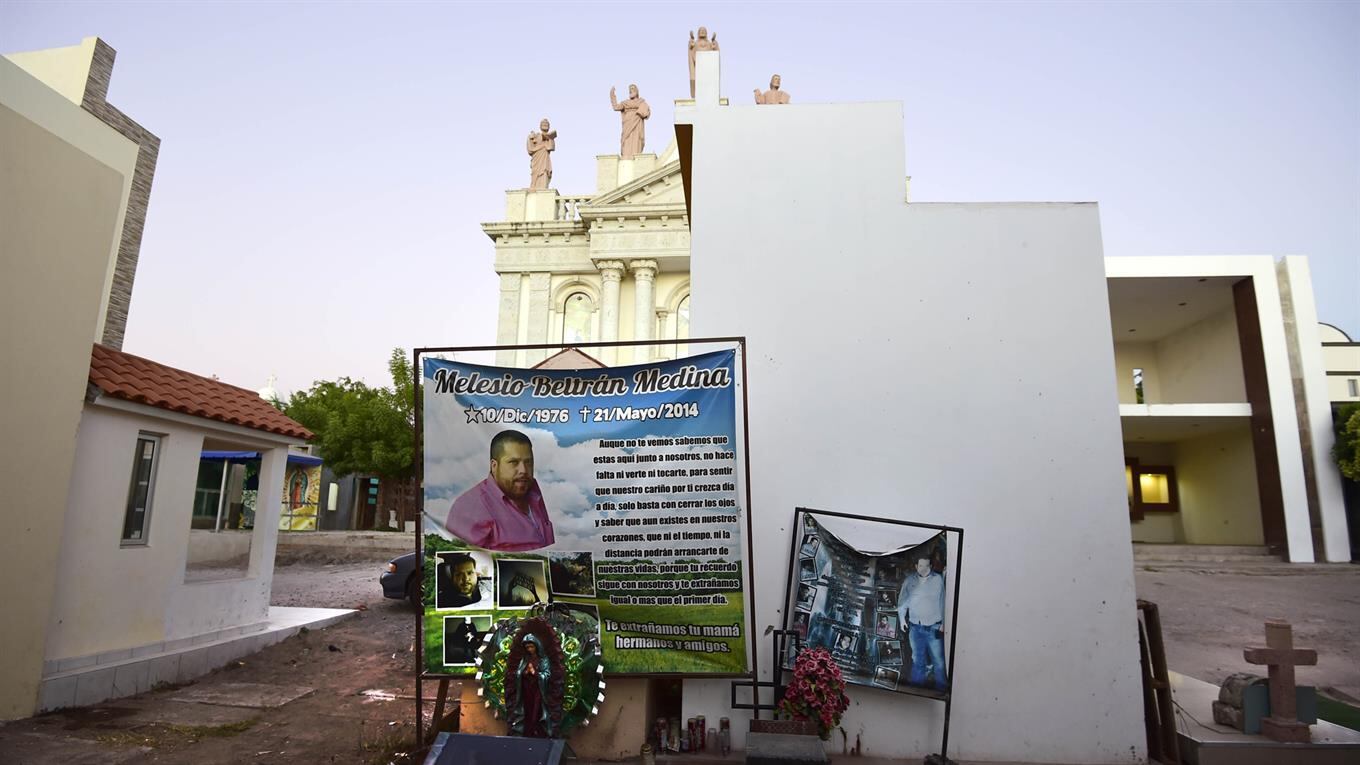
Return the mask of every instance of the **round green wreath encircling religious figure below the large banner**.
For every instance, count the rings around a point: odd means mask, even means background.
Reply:
[[[600,621],[590,614],[568,608],[563,603],[534,606],[524,615],[496,622],[483,638],[476,659],[477,696],[496,719],[509,719],[506,708],[506,677],[510,649],[524,619],[539,617],[548,622],[562,645],[564,667],[562,719],[555,736],[566,738],[578,726],[589,726],[604,701],[604,663],[600,656]]]

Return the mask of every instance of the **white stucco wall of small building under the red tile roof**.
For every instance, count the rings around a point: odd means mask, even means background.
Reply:
[[[107,399],[101,399],[106,402]],[[160,436],[147,543],[121,546],[139,433]],[[87,404],[48,626],[46,659],[135,648],[261,622],[269,611],[286,441],[125,402]],[[204,438],[265,452],[243,579],[185,584],[190,515]]]

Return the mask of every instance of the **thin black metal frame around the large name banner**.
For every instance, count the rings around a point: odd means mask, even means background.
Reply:
[[[683,340],[617,340],[617,342],[600,342],[600,343],[529,343],[529,344],[513,344],[513,346],[439,346],[439,347],[418,347],[411,351],[411,373],[412,373],[412,411],[415,417],[415,452],[412,456],[413,467],[416,471],[416,490],[420,497],[424,497],[424,422],[423,417],[423,372],[420,368],[420,357],[426,354],[437,353],[475,353],[475,351],[534,351],[534,350],[568,350],[568,348],[616,348],[616,347],[651,347],[651,346],[690,346],[690,344],[706,344],[706,343],[729,343],[736,344],[737,355],[741,361],[741,457],[743,457],[743,481],[745,483],[745,513],[747,513],[747,623],[743,625],[747,630],[748,649],[751,651],[749,671],[740,674],[694,674],[694,672],[645,672],[645,674],[615,674],[613,677],[623,678],[700,678],[700,679],[722,679],[722,678],[749,678],[755,682],[759,678],[759,655],[756,652],[756,636],[751,629],[751,623],[755,621],[756,613],[756,577],[755,577],[755,542],[751,527],[751,417],[749,417],[749,384],[747,381],[747,338],[744,335],[730,336],[730,338],[685,338]],[[423,500],[422,500],[423,508]],[[424,555],[422,544],[424,542],[424,510],[422,509],[422,517],[416,523],[415,542],[416,542],[416,570],[415,576],[418,581],[424,583]],[[422,598],[422,607],[416,610],[416,742],[424,742],[424,687],[423,682],[426,679],[439,681],[446,683],[454,679],[464,679],[457,675],[445,674],[428,674],[424,670],[424,600]],[[951,647],[952,649],[952,647]],[[438,724],[439,720],[432,720],[432,724]]]

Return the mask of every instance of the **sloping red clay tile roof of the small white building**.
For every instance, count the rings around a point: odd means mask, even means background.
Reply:
[[[90,382],[106,396],[295,438],[311,432],[254,391],[106,348],[90,354]]]

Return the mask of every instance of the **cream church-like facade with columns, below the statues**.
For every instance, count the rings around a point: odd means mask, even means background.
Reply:
[[[690,215],[675,144],[597,158],[592,195],[506,192],[503,221],[483,223],[500,279],[496,343],[676,340],[598,348],[607,365],[684,355],[690,336]],[[532,366],[552,350],[498,351]]]

